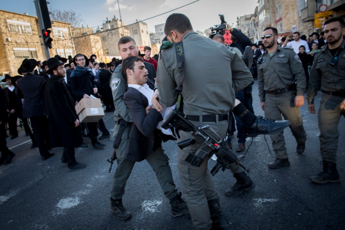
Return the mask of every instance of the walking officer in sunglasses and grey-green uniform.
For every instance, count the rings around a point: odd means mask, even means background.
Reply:
[[[278,46],[277,35],[276,28],[267,27],[262,36],[267,50],[257,61],[261,108],[266,118],[282,120],[283,115],[285,120],[291,122],[289,127],[297,141],[296,151],[301,154],[305,150],[307,138],[299,107],[304,104],[306,77],[298,55],[291,48]],[[295,81],[296,96],[293,89]],[[270,134],[270,137],[276,159],[268,164],[268,168],[289,166],[283,130]]]

